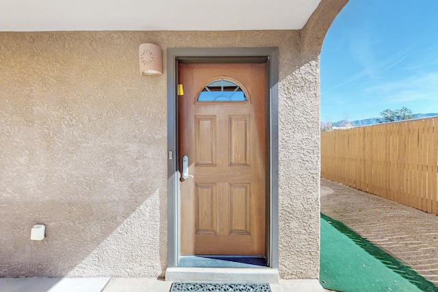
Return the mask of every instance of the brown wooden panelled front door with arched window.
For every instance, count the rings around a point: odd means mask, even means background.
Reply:
[[[181,254],[265,256],[265,64],[180,64],[179,83]]]

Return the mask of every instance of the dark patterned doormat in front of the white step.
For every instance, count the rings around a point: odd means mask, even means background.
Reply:
[[[271,292],[269,284],[173,282],[170,292]]]

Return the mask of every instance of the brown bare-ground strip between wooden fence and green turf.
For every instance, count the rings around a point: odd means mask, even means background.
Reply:
[[[438,216],[321,179],[321,212],[438,284]]]

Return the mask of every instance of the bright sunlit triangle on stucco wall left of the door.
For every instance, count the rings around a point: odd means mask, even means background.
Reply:
[[[108,210],[111,212],[111,210]],[[121,222],[81,263],[70,270],[68,276],[83,274],[112,275],[126,273],[129,276],[164,271],[167,263],[166,240],[159,235],[166,233],[160,226],[159,190],[149,196],[129,217]],[[165,221],[162,221],[165,222]],[[160,230],[160,233],[157,231]],[[149,260],[147,267],[142,259]],[[161,265],[160,265],[161,264]]]

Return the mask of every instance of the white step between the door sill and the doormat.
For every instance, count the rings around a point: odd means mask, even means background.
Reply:
[[[235,267],[168,267],[166,281],[171,282],[279,282],[279,269]]]

